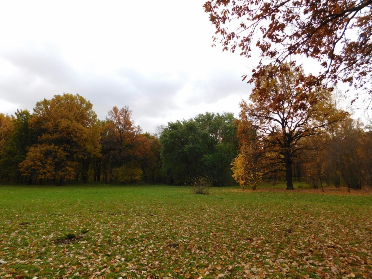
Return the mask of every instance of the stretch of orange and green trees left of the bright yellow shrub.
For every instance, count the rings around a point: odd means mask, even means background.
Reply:
[[[0,182],[180,184],[196,175],[215,185],[233,182],[231,113],[169,123],[159,136],[135,126],[127,106],[115,106],[99,120],[84,97],[56,95],[36,103],[33,113],[0,113]]]

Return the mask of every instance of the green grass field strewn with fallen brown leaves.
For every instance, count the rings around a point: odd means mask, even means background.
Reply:
[[[372,278],[372,195],[0,186],[0,278]]]

